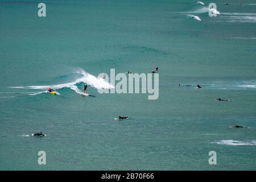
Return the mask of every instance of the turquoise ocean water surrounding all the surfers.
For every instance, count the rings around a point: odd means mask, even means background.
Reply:
[[[1,170],[256,169],[255,1],[44,1],[39,17],[40,2],[0,1]],[[155,67],[158,100],[91,79]]]

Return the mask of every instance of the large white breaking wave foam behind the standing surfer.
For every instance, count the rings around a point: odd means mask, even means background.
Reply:
[[[90,75],[89,73],[85,72],[84,70],[80,69],[79,71],[74,73],[75,75],[79,76],[74,81],[67,82],[64,84],[55,84],[55,85],[32,85],[32,86],[10,86],[9,88],[15,88],[15,89],[37,89],[37,90],[47,90],[48,88],[51,88],[53,90],[59,90],[62,88],[69,88],[75,91],[79,94],[84,94],[79,90],[79,88],[76,86],[76,84],[80,83],[86,83],[92,88],[96,89],[114,89],[114,86],[112,84],[109,84],[109,82],[105,81],[103,78],[96,77],[93,75]],[[37,92],[37,93],[31,93],[28,94],[28,96],[35,96],[38,94],[47,93],[47,91],[43,92]],[[59,94],[59,93],[57,93]]]

